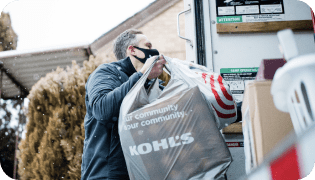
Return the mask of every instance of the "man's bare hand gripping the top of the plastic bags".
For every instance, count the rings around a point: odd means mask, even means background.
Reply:
[[[147,59],[147,61],[145,62],[145,64],[143,65],[143,67],[141,68],[140,72],[142,74],[145,73],[145,71],[151,66],[151,64],[154,62],[154,60],[157,58],[157,56],[153,56],[149,59]],[[166,63],[165,59],[163,58],[162,55],[159,56],[159,60],[155,63],[155,65],[153,66],[148,79],[153,79],[158,77],[160,74],[162,74],[163,72],[163,65]]]

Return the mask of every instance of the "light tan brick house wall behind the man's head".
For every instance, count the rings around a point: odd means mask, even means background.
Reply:
[[[185,40],[177,36],[177,14],[184,10],[184,2],[179,1],[153,20],[138,28],[151,41],[154,49],[158,49],[165,56],[185,60]],[[180,17],[181,35],[185,35],[185,19]],[[115,60],[112,47],[113,41],[107,43],[97,51],[97,58],[106,62]]]

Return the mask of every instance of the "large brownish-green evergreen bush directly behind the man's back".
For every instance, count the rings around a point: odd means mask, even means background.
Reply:
[[[85,83],[102,63],[90,57],[41,78],[28,95],[26,137],[19,144],[21,179],[80,179],[84,140]]]

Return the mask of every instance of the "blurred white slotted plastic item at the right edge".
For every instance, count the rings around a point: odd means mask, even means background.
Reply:
[[[295,43],[292,41],[291,30],[278,32],[280,43]],[[281,34],[282,33],[282,34]],[[287,39],[281,41],[281,39]],[[288,41],[291,39],[291,41]],[[294,39],[293,39],[294,40]],[[296,46],[281,44],[284,56],[288,62],[276,71],[271,94],[275,106],[284,112],[289,112],[297,134],[314,124],[315,116],[315,53],[296,56]],[[293,47],[293,48],[292,48]]]

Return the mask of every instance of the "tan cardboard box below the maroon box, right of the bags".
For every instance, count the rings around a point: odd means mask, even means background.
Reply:
[[[270,87],[271,81],[254,81],[244,92],[242,113],[248,109],[257,165],[293,131],[290,114],[276,109]]]

